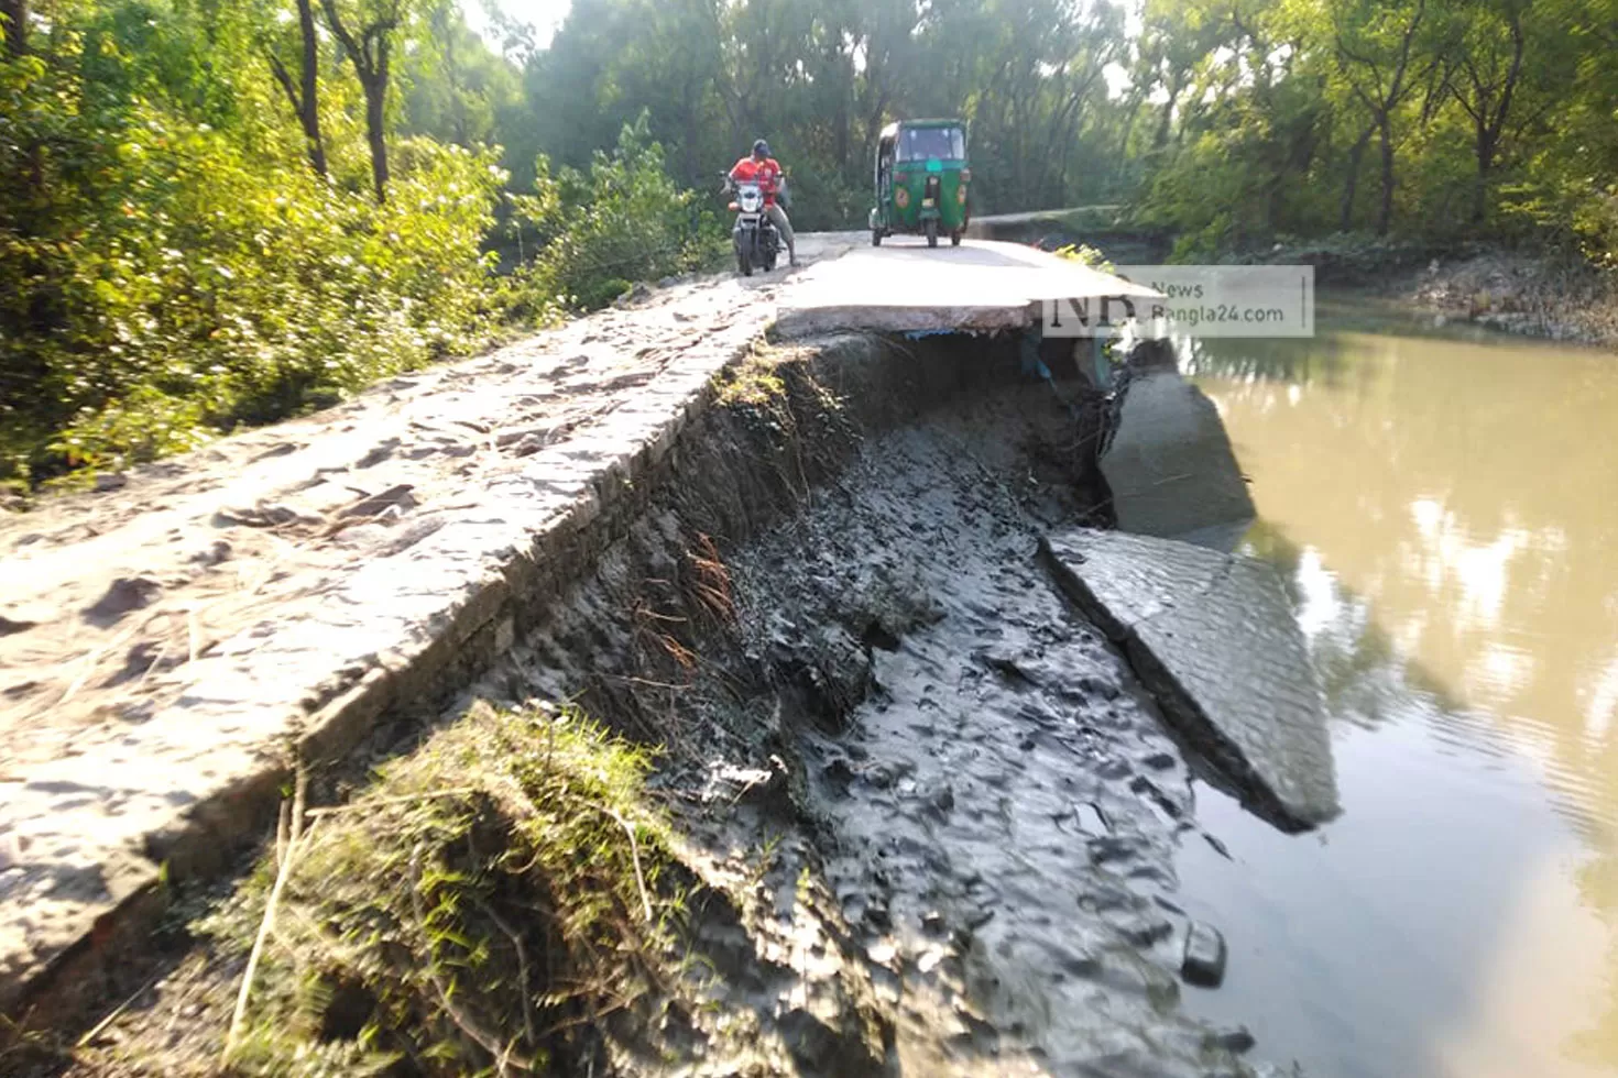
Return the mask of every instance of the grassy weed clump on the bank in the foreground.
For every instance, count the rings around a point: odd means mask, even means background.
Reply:
[[[476,705],[361,798],[311,810],[230,1065],[531,1073],[595,1052],[680,975],[647,755],[578,711]],[[201,923],[251,949],[277,855]]]

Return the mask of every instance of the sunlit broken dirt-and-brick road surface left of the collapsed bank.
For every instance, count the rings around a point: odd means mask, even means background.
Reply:
[[[419,693],[387,682],[667,449],[786,280],[662,289],[0,520],[0,1005],[205,861],[325,710]]]

